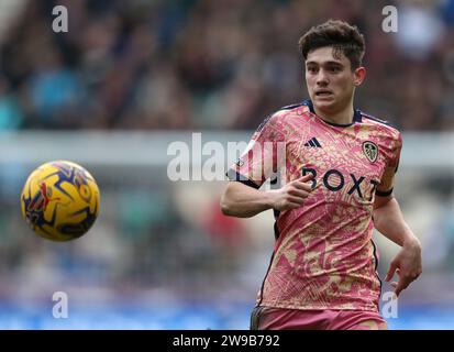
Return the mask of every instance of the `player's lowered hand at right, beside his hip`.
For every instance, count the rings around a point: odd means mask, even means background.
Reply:
[[[389,282],[396,272],[399,280],[392,282],[391,286],[395,288],[396,296],[399,296],[401,290],[406,289],[422,273],[421,244],[417,239],[403,244],[392,260],[385,280]]]

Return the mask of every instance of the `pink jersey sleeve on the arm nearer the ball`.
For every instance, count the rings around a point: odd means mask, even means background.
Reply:
[[[286,146],[283,121],[279,113],[265,119],[253,134],[246,150],[229,168],[230,180],[259,188],[285,160]]]

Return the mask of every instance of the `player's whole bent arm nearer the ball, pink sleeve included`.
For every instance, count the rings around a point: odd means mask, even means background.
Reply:
[[[226,176],[231,182],[221,197],[224,215],[250,218],[267,209],[295,209],[304,202],[311,191],[311,183],[308,183],[313,177],[311,174],[295,179],[280,189],[258,189],[274,173],[285,167],[286,129],[280,127],[284,114],[285,112],[277,112],[266,118],[254,133],[246,151],[229,169]]]

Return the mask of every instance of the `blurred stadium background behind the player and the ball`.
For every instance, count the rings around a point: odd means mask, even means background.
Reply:
[[[58,4],[67,33],[52,31]],[[381,30],[386,4],[397,33]],[[396,196],[424,271],[389,327],[454,329],[453,0],[1,0],[0,16],[1,329],[246,329],[272,213],[223,217],[225,180],[170,182],[167,146],[247,141],[306,98],[297,42],[330,18],[366,35],[357,107],[403,131]],[[27,174],[57,158],[101,189],[97,223],[69,243],[20,215]],[[384,277],[397,246],[376,241]],[[52,316],[55,292],[68,319]]]

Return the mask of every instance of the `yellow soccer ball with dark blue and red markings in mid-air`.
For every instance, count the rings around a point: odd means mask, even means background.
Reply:
[[[98,217],[98,185],[80,165],[46,163],[26,179],[21,210],[38,235],[52,241],[74,240],[84,235]]]

